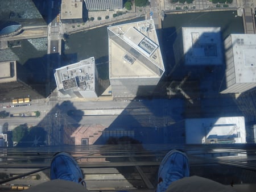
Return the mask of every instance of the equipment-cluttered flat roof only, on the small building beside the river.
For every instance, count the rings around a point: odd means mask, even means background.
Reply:
[[[55,69],[57,88],[72,91],[95,90],[94,57]]]

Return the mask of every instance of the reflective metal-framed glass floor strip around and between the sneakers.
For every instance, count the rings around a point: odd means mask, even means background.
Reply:
[[[160,162],[171,149],[187,153],[191,176],[224,185],[256,186],[254,144],[119,144],[2,148],[0,190],[27,189],[49,181],[51,158],[64,151],[79,163],[89,191],[155,191]]]

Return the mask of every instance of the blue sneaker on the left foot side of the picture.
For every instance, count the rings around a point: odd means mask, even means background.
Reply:
[[[51,162],[51,180],[66,180],[85,185],[82,171],[76,160],[68,153],[57,153]]]

